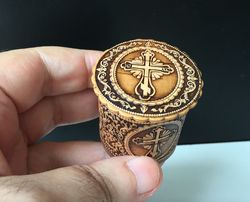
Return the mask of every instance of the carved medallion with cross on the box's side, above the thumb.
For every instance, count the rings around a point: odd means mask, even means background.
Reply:
[[[166,160],[178,142],[184,118],[158,125],[144,125],[125,137],[128,154]]]

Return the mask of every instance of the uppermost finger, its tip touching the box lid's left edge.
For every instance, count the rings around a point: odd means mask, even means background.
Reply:
[[[92,67],[100,51],[37,47],[0,54],[0,88],[19,113],[44,96],[90,88]]]

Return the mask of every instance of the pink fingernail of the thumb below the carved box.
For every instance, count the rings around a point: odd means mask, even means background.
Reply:
[[[127,162],[128,168],[135,175],[137,193],[152,195],[161,182],[159,165],[149,157],[137,157]]]

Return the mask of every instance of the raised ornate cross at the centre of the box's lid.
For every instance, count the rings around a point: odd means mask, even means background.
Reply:
[[[155,88],[152,80],[159,79],[164,74],[168,75],[174,72],[170,65],[163,64],[156,59],[155,54],[150,49],[143,51],[138,58],[123,62],[121,67],[140,79],[135,88],[135,93],[142,100],[149,100],[154,96]]]

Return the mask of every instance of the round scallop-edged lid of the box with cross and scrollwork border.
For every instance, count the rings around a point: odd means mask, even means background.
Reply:
[[[127,41],[104,52],[92,77],[102,104],[124,118],[170,121],[185,115],[201,95],[195,63],[154,40]]]

